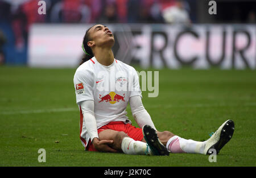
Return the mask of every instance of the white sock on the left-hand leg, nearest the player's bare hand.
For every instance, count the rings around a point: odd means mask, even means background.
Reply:
[[[145,155],[147,144],[141,141],[135,141],[130,137],[125,137],[122,140],[122,151],[127,155]],[[151,150],[148,147],[148,154],[151,155]]]

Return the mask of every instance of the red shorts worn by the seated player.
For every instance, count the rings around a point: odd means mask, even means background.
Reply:
[[[142,129],[134,127],[134,126],[130,125],[130,123],[123,123],[122,121],[110,122],[107,125],[100,127],[100,129],[98,129],[98,134],[100,134],[101,131],[104,131],[106,129],[111,129],[111,130],[115,130],[115,131],[123,131],[128,136],[130,136],[130,138],[133,138],[136,141],[137,140],[141,141],[143,139]],[[91,140],[89,140],[86,150],[97,151],[94,148]]]

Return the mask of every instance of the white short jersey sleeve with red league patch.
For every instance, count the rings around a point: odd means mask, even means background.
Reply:
[[[76,93],[76,103],[79,104],[81,101],[94,100],[93,88],[94,88],[94,76],[93,72],[76,71],[74,76],[74,87]]]

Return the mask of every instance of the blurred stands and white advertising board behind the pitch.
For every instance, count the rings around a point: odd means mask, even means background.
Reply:
[[[0,63],[76,67],[85,30],[95,23],[115,34],[114,55],[141,67],[255,68],[254,0],[0,1]]]

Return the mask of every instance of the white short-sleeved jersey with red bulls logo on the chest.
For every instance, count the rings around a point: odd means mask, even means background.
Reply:
[[[114,59],[114,62],[105,66],[95,57],[81,64],[74,76],[76,102],[85,100],[94,101],[94,116],[97,129],[109,122],[122,121],[131,123],[126,116],[126,107],[132,96],[141,96],[138,74],[133,67]],[[80,138],[86,147],[89,134],[80,107]]]

